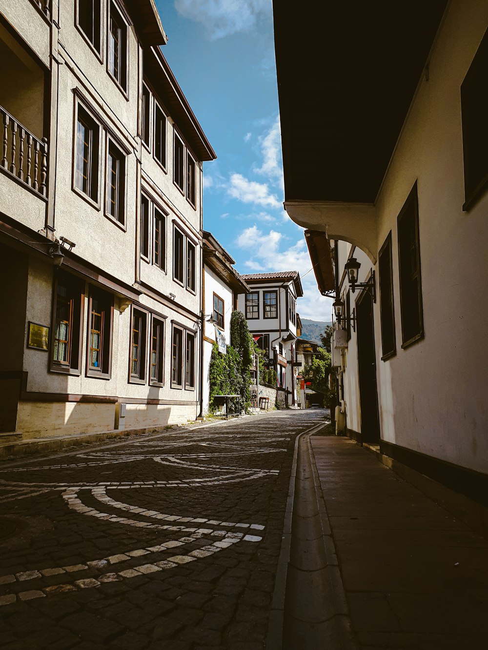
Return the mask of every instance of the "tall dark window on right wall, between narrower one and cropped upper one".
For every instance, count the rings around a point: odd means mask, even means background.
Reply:
[[[417,184],[398,215],[402,348],[424,336]]]

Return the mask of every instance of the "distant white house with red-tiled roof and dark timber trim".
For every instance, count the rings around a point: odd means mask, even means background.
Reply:
[[[303,296],[298,271],[243,274],[250,291],[239,295],[249,331],[277,372],[285,404],[297,406],[297,298]]]

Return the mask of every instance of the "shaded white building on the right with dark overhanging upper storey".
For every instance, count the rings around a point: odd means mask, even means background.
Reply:
[[[312,4],[273,3],[284,207],[331,244],[338,422],[486,506],[488,3]]]

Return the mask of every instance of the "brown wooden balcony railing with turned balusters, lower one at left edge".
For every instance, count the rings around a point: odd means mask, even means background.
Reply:
[[[38,140],[0,106],[3,124],[1,170],[46,196],[47,138]]]

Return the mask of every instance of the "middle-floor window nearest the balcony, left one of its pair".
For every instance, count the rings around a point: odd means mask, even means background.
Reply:
[[[75,142],[75,188],[92,201],[98,201],[98,159],[100,125],[77,104]]]

